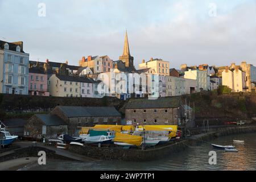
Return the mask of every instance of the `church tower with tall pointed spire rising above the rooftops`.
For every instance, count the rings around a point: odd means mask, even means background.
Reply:
[[[134,68],[133,65],[133,56],[130,55],[129,43],[127,31],[125,34],[125,45],[123,46],[123,55],[119,57],[119,60],[122,60],[125,63],[126,68]]]

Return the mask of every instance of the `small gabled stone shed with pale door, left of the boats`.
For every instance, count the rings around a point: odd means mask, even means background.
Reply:
[[[32,138],[56,138],[68,133],[68,124],[57,115],[35,114],[24,125],[24,136]]]

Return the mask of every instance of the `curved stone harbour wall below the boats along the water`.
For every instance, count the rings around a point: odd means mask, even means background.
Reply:
[[[217,131],[194,135],[177,143],[168,144],[163,147],[156,147],[147,150],[123,149],[122,147],[99,148],[92,146],[69,146],[69,151],[101,160],[125,160],[125,161],[150,161],[163,159],[171,154],[184,151],[188,146],[194,146],[208,140],[232,134],[245,134],[256,132],[256,125],[235,126],[217,129]]]

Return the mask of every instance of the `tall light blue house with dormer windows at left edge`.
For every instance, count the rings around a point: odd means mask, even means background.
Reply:
[[[28,94],[28,61],[23,42],[0,40],[0,93]]]

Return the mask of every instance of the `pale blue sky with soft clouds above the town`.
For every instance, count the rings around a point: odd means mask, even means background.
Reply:
[[[150,57],[256,65],[256,0],[0,0],[0,17],[0,40],[23,41],[35,61],[118,60],[127,30],[136,68]]]

